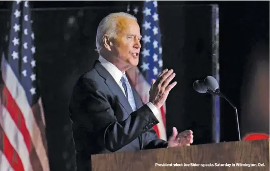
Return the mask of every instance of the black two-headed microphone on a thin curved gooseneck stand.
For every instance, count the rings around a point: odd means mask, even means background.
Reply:
[[[198,93],[209,93],[212,95],[217,95],[222,98],[224,98],[234,109],[235,112],[235,119],[236,119],[236,124],[237,124],[237,133],[238,133],[238,139],[239,141],[241,140],[240,137],[240,129],[239,129],[239,121],[238,121],[238,113],[237,113],[237,108],[235,105],[232,104],[232,102],[220,91],[219,88],[219,83],[218,81],[212,77],[212,76],[207,76],[204,81],[202,80],[196,80],[193,83],[193,88],[198,92]]]

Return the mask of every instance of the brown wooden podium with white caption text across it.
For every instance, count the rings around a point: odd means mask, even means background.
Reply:
[[[269,170],[269,139],[98,154],[91,160],[92,171]]]

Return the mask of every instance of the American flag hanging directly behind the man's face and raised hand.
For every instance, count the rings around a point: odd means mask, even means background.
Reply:
[[[156,79],[163,70],[161,34],[157,11],[157,1],[144,1],[143,5],[128,5],[127,12],[139,19],[142,34],[140,65],[127,71],[129,80],[135,90],[141,95],[142,101],[149,101],[149,90],[152,79]],[[140,17],[141,15],[141,17]],[[140,21],[142,18],[142,21]],[[166,106],[159,109],[159,123],[153,128],[160,139],[166,136]]]

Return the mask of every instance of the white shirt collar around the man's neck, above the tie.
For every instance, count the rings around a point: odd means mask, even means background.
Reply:
[[[113,76],[117,83],[120,82],[123,73],[112,63],[105,60],[101,55],[99,56],[100,64]]]

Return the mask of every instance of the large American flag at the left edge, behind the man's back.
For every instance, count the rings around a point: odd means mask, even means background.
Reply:
[[[13,1],[1,62],[0,170],[49,170],[28,1]]]

